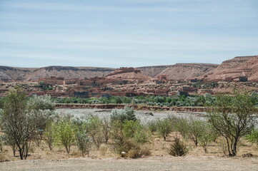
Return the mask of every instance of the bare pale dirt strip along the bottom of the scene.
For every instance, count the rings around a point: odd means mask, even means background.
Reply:
[[[258,170],[258,158],[228,157],[147,157],[129,159],[23,160],[0,163],[0,170]]]

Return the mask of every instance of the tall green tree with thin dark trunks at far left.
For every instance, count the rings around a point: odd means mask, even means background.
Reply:
[[[1,125],[4,128],[4,138],[11,146],[19,149],[20,159],[26,159],[29,143],[35,139],[36,131],[46,125],[49,110],[29,108],[26,95],[21,88],[10,90],[7,94],[4,108],[0,113]]]

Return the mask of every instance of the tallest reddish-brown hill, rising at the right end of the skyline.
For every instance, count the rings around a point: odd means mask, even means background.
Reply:
[[[225,80],[241,76],[247,76],[250,81],[258,79],[258,56],[237,56],[224,61],[204,78]]]

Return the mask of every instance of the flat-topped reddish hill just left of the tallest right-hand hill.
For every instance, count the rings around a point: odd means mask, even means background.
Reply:
[[[177,63],[166,68],[159,75],[167,75],[169,80],[194,79],[213,71],[217,66],[209,63]]]

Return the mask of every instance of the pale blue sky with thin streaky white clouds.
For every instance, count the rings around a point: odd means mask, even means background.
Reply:
[[[258,55],[257,0],[0,0],[0,66],[158,66]]]

